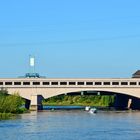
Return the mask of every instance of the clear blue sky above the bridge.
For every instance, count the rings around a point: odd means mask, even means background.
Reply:
[[[140,69],[139,0],[0,0],[0,77],[125,78]]]

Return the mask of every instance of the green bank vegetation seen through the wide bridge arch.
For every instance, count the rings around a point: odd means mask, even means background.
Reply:
[[[110,107],[114,104],[114,96],[98,95],[60,95],[45,99],[43,105],[80,105],[80,106],[99,106]]]

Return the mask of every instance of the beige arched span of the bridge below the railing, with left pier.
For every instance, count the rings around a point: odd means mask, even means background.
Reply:
[[[61,95],[61,94],[67,94],[67,93],[73,93],[73,92],[82,92],[82,91],[99,91],[99,92],[108,92],[110,95],[112,93],[130,96],[131,99],[133,99],[137,103],[137,108],[140,109],[140,88],[136,87],[97,87],[97,88],[91,88],[91,87],[49,87],[49,88],[7,88],[9,94],[13,94],[14,92],[18,92],[19,95],[27,100],[31,101],[31,105],[38,106],[40,104],[41,106],[41,99],[43,98],[50,98],[53,96]],[[39,98],[41,96],[41,98]],[[133,97],[133,98],[132,98]],[[38,99],[39,102],[38,102]],[[123,102],[120,99],[119,102]],[[29,104],[29,103],[28,103]]]

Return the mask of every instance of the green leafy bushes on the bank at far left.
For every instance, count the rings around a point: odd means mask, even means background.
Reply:
[[[7,91],[0,91],[0,120],[8,119],[14,114],[23,113],[24,108],[21,108],[23,99],[17,94],[8,95]]]

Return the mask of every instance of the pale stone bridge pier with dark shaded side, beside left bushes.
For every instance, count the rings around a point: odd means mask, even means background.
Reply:
[[[30,110],[32,111],[42,110],[43,109],[42,100],[43,97],[41,95],[31,95]]]

